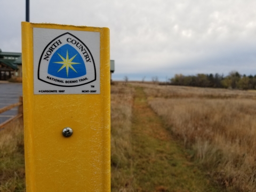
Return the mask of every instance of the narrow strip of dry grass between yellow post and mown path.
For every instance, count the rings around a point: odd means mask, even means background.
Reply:
[[[134,191],[131,118],[134,89],[111,86],[111,191]]]

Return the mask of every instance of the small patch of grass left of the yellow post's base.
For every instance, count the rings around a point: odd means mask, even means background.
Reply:
[[[21,119],[11,122],[0,131],[0,191],[26,191]]]

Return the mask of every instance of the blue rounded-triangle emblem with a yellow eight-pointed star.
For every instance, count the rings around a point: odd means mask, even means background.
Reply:
[[[55,77],[76,78],[86,75],[86,67],[78,51],[65,44],[52,55],[47,72]]]

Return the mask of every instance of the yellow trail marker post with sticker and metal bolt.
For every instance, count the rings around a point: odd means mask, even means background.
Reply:
[[[22,22],[28,192],[110,191],[109,29]]]

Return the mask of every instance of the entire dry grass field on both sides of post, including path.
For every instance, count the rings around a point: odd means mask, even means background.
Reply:
[[[256,191],[256,92],[111,86],[111,191]],[[26,191],[22,122],[0,131],[0,191]]]

